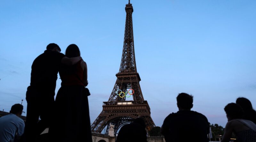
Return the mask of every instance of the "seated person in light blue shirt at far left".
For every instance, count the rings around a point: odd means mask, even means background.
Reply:
[[[23,111],[21,104],[12,106],[10,114],[0,118],[0,142],[10,142],[24,133],[25,123],[20,118]]]

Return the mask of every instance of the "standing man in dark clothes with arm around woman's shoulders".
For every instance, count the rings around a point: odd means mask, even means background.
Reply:
[[[24,132],[26,141],[34,142],[34,139],[50,125],[60,64],[73,65],[81,59],[81,57],[65,57],[55,43],[47,45],[44,53],[36,57],[31,67],[31,82],[26,93],[28,103]],[[38,122],[39,116],[41,120]],[[24,141],[24,137],[22,140]]]

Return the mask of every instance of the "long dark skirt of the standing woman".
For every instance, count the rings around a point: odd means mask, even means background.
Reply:
[[[60,87],[55,99],[53,120],[49,130],[52,140],[92,142],[89,104],[84,86]]]

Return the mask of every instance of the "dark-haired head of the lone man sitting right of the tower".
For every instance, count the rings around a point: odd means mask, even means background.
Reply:
[[[177,96],[177,106],[179,110],[190,110],[193,108],[193,96],[187,93],[179,93]]]

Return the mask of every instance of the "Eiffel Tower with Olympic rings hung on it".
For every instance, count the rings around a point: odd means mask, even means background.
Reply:
[[[119,72],[116,74],[116,83],[108,99],[103,102],[103,110],[92,123],[91,129],[101,133],[107,126],[106,134],[110,123],[114,126],[115,135],[117,130],[124,124],[131,123],[134,119],[141,117],[144,119],[147,129],[155,126],[151,116],[148,102],[144,100],[140,89],[140,75],[137,72],[133,29],[132,29],[132,4],[125,6],[126,20],[124,31],[124,47]],[[126,97],[133,97],[133,101],[125,101]]]

